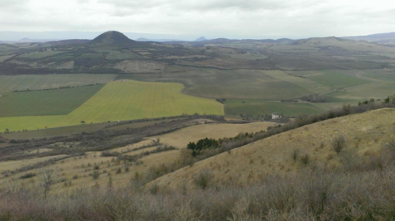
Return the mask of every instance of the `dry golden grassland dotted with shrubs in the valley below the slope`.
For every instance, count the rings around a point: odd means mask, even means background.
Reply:
[[[9,160],[0,162],[0,172],[6,170],[16,170],[24,166],[34,165],[40,162],[45,162],[51,158],[67,157],[63,160],[57,161],[55,164],[45,166],[44,168],[53,168],[54,179],[56,180],[52,190],[54,192],[61,192],[67,186],[70,189],[77,189],[79,187],[89,187],[95,184],[102,187],[107,186],[109,176],[111,176],[114,186],[122,187],[132,178],[138,174],[144,174],[150,167],[158,166],[160,164],[171,164],[179,159],[181,149],[190,141],[197,141],[199,139],[221,138],[224,136],[235,136],[241,132],[257,132],[266,130],[268,126],[275,125],[271,122],[254,122],[246,124],[230,124],[230,123],[204,123],[212,122],[212,120],[197,120],[199,125],[185,127],[183,129],[173,131],[168,134],[160,136],[147,137],[146,140],[137,142],[135,144],[126,145],[124,147],[117,147],[110,149],[110,152],[119,152],[123,155],[139,155],[146,151],[153,151],[158,146],[173,145],[177,147],[174,150],[162,151],[158,153],[151,153],[149,155],[139,158],[136,162],[128,162],[127,160],[118,160],[117,157],[102,157],[102,152],[87,152],[85,156],[72,157],[69,155],[57,155],[51,157],[31,158],[27,160]],[[161,144],[154,144],[152,140],[160,138]],[[182,139],[180,139],[182,138]],[[37,151],[37,150],[34,150]],[[34,152],[33,151],[33,152]],[[39,150],[40,152],[45,150]],[[107,151],[107,152],[108,152]],[[98,169],[94,169],[98,166]],[[128,168],[126,171],[125,168]],[[121,168],[120,173],[117,170]],[[2,182],[11,182],[17,180],[22,185],[37,185],[40,179],[40,169],[30,169],[23,172],[17,172],[8,177],[0,179]],[[100,173],[98,179],[92,178],[92,173],[97,171]],[[32,178],[21,179],[20,177],[28,173],[36,174]]]

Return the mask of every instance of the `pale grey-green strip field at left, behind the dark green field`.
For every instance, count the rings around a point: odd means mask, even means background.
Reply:
[[[0,75],[0,92],[102,84],[113,80],[115,76],[115,74]]]

